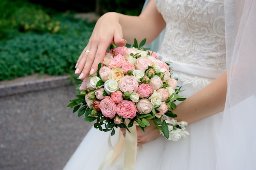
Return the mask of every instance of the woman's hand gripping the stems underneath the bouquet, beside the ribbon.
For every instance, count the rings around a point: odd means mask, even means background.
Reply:
[[[153,121],[149,120],[150,122],[150,126],[147,126],[143,132],[141,130],[141,128],[139,128],[139,126],[136,126],[137,128],[137,139],[138,139],[138,146],[145,144],[149,141],[153,141],[155,139],[157,139],[158,137],[162,136],[159,131],[157,130],[157,128],[155,127],[155,124],[153,123]],[[123,133],[123,135],[126,135],[126,128],[120,128],[121,132]]]

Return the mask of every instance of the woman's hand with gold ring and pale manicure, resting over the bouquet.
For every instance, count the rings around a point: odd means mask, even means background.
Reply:
[[[92,35],[76,63],[75,74],[84,79],[89,73],[94,74],[98,64],[103,61],[108,46],[115,42],[117,46],[125,46],[121,25],[117,13],[105,13],[95,24]]]

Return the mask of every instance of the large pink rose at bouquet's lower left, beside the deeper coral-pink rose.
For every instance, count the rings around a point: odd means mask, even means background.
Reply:
[[[99,108],[101,109],[102,115],[109,117],[110,119],[115,117],[117,113],[117,106],[109,96],[106,96],[103,100],[101,100],[99,103]]]

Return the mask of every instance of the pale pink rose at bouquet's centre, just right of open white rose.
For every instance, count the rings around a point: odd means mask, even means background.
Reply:
[[[124,92],[136,92],[139,86],[137,79],[134,76],[125,75],[119,82],[118,86],[120,91]]]

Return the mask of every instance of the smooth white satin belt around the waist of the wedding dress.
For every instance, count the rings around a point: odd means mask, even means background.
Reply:
[[[213,68],[206,68],[206,67],[198,67],[193,66],[189,64],[184,64],[180,62],[175,62],[170,60],[167,57],[163,57],[162,55],[159,55],[159,60],[165,61],[165,62],[171,62],[170,66],[172,70],[179,71],[181,73],[191,74],[191,75],[197,75],[202,77],[208,77],[216,79],[220,77],[223,73],[225,73],[225,70],[217,70]]]

